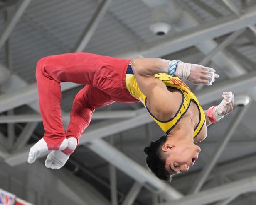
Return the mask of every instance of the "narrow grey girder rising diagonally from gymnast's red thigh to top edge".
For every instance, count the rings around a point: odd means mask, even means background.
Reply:
[[[89,43],[94,31],[98,27],[98,24],[101,22],[101,19],[106,14],[108,7],[111,5],[112,0],[103,0],[94,13],[91,21],[89,22],[88,26],[86,26],[85,31],[81,35],[81,39],[79,39],[76,48],[74,49],[75,52],[82,52],[84,51],[85,47]]]

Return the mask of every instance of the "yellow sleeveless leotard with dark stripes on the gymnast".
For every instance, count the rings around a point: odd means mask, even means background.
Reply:
[[[131,71],[130,73],[133,73],[133,72]],[[167,134],[170,132],[170,130],[172,130],[175,127],[175,125],[180,121],[180,118],[182,118],[182,116],[186,113],[186,111],[190,106],[191,101],[194,101],[194,103],[197,105],[197,108],[199,110],[199,123],[194,128],[194,138],[195,138],[201,131],[205,121],[204,110],[200,106],[199,101],[197,100],[197,97],[191,92],[190,88],[184,82],[182,82],[182,80],[180,80],[180,78],[178,77],[172,77],[165,73],[156,74],[155,77],[162,80],[162,82],[166,84],[166,87],[177,89],[182,94],[182,103],[180,105],[180,108],[175,114],[175,116],[170,120],[160,121],[150,113],[150,111],[146,106],[147,98],[140,91],[138,84],[136,82],[135,76],[133,74],[126,74],[126,87],[133,97],[140,100],[144,104],[144,106],[147,108],[153,120],[156,123],[158,123],[160,128]]]

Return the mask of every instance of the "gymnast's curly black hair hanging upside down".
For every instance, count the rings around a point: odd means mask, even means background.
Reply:
[[[160,137],[158,140],[151,141],[150,146],[144,148],[144,152],[148,155],[146,162],[151,171],[159,179],[171,181],[170,174],[165,169],[165,160],[160,154],[162,145],[166,142],[167,135]]]

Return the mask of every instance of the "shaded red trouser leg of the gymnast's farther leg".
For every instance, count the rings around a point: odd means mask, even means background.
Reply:
[[[79,137],[90,124],[91,116],[95,109],[113,102],[114,100],[105,92],[91,85],[86,85],[76,94],[74,99],[66,137],[75,137],[78,144]],[[66,148],[62,152],[70,155],[74,150]]]

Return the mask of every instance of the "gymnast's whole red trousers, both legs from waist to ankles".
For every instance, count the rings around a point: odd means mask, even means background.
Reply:
[[[59,150],[64,138],[77,142],[96,108],[115,101],[138,102],[127,90],[126,70],[130,60],[92,53],[66,53],[42,58],[36,79],[39,108],[44,124],[44,140],[49,150]],[[86,85],[73,102],[66,133],[63,128],[60,82]]]

